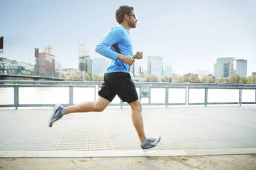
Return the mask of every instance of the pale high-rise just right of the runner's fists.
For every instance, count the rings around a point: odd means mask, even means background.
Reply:
[[[163,77],[163,61],[162,57],[149,56],[147,58],[147,73],[148,75],[156,75],[158,80]]]

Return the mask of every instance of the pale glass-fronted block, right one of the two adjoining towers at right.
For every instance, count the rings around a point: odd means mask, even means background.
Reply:
[[[247,77],[247,60],[233,59],[230,66],[231,75],[238,74]]]

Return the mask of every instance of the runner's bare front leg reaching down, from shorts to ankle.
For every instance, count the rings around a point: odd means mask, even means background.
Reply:
[[[138,133],[140,141],[142,141],[146,137],[144,132],[143,119],[142,119],[142,106],[139,100],[133,101],[129,103],[129,105],[131,106],[132,122],[134,123],[134,127]]]

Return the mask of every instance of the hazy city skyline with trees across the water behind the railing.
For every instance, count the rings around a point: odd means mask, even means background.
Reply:
[[[18,62],[4,57],[3,37],[0,38],[0,74],[7,75],[40,75],[58,77],[63,80],[103,81],[103,75],[110,60],[89,56],[88,45],[78,45],[78,67],[63,68],[61,62],[55,60],[53,48],[45,47],[44,51],[34,49],[35,64]],[[40,52],[41,51],[41,52]],[[256,81],[256,72],[247,76],[247,60],[234,57],[217,58],[213,64],[213,72],[198,70],[198,73],[184,75],[173,73],[170,65],[164,64],[160,56],[147,56],[147,69],[134,62],[129,71],[136,82],[219,82],[219,83],[248,83]]]

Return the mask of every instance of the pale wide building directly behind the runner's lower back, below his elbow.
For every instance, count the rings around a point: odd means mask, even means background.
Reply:
[[[92,75],[98,74],[100,77],[103,77],[107,66],[109,66],[109,60],[105,60],[105,58],[94,58],[92,60]]]

